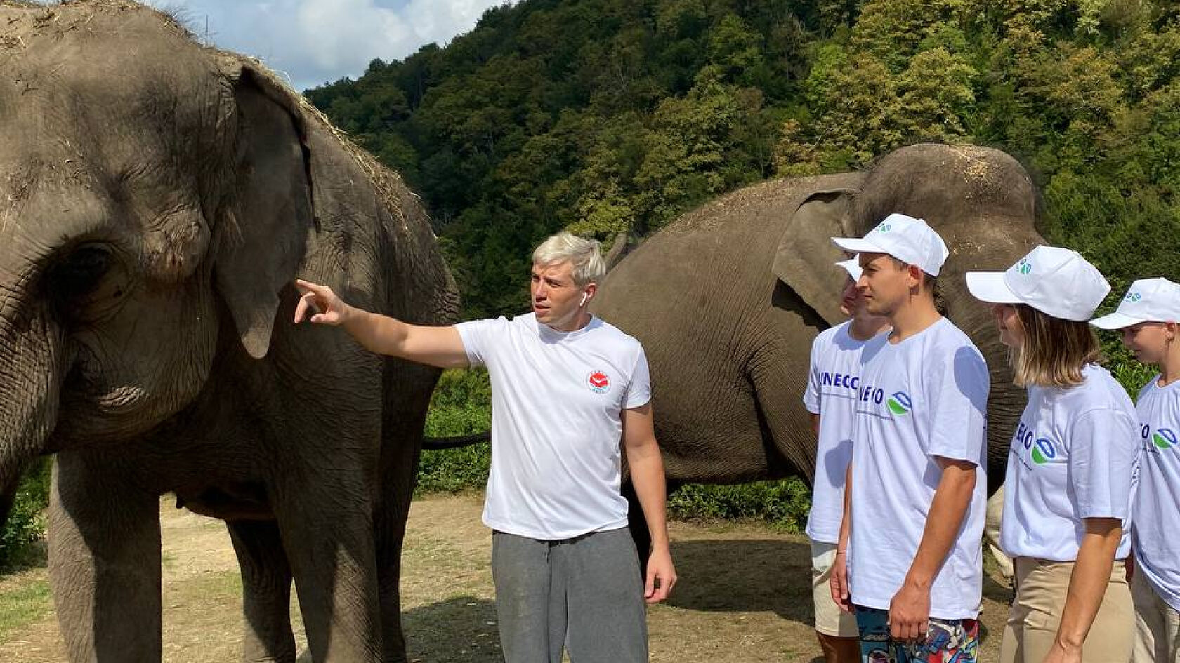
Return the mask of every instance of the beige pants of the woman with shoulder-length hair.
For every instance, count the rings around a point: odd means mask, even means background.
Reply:
[[[1008,612],[1002,663],[1041,663],[1053,648],[1061,624],[1061,610],[1069,591],[1073,562],[1047,562],[1017,557],[1016,599]],[[1134,642],[1134,608],[1127,586],[1127,567],[1115,562],[1102,606],[1094,618],[1083,663],[1128,663]]]

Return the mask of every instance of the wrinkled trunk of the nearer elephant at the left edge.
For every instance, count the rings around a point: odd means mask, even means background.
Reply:
[[[0,320],[0,524],[30,462],[46,451],[58,419],[63,348],[44,313]]]

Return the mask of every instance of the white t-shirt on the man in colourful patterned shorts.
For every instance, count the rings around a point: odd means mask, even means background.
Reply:
[[[983,591],[988,366],[939,319],[898,343],[889,334],[860,373],[852,445],[850,582],[857,605],[889,610],[922,543],[942,457],[976,465],[971,504],[930,590],[930,616],[974,619]],[[864,353],[871,353],[868,347]]]

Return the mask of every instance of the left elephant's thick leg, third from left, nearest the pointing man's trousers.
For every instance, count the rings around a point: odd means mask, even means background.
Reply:
[[[363,477],[360,471],[317,475]],[[360,485],[336,481],[284,484],[274,508],[290,562],[312,659],[379,663],[372,505]]]

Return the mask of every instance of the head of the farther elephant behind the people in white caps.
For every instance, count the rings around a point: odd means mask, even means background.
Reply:
[[[989,484],[1003,480],[1008,436],[1024,405],[1012,385],[1008,350],[991,315],[966,291],[964,273],[1003,270],[1044,243],[1034,228],[1036,195],[1028,172],[998,150],[922,144],[891,152],[846,188],[812,192],[791,217],[773,271],[830,324],[840,322],[840,251],[830,237],[859,237],[891,212],[926,222],[950,249],[936,294],[951,321],[965,332],[991,372]]]

